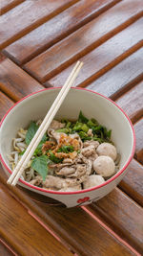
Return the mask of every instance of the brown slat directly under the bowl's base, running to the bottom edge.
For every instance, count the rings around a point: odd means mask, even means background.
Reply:
[[[6,184],[3,172],[0,172],[0,180]],[[34,203],[18,188],[11,188],[11,191],[31,210],[32,216],[51,228],[78,255],[94,256],[95,252],[102,256],[107,256],[107,252],[111,256],[134,255],[80,207],[66,209]]]

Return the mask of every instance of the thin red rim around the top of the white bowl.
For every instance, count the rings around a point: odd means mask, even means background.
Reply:
[[[36,92],[33,92],[31,94],[29,94],[28,96],[22,98],[20,101],[18,101],[16,104],[12,105],[10,107],[10,109],[7,111],[7,113],[4,115],[3,119],[1,120],[0,122],[0,128],[5,120],[5,118],[7,117],[7,115],[10,113],[10,110],[15,107],[15,105],[18,105],[19,103],[21,103],[22,101],[24,101],[25,99],[31,97],[32,95],[34,94],[37,94],[37,93],[40,93],[40,92],[43,92],[43,91],[47,91],[47,90],[54,90],[54,89],[60,89],[61,87],[51,87],[51,88],[45,88],[45,89],[42,89],[42,90],[39,90],[39,91],[36,91]],[[72,87],[72,89],[75,89],[75,90],[84,90],[84,91],[89,91],[89,92],[92,92],[92,93],[95,93],[103,98],[105,98],[106,100],[110,101],[113,105],[115,105],[117,108],[120,109],[120,111],[125,115],[125,117],[127,118],[127,120],[129,121],[130,123],[130,126],[133,130],[133,150],[132,150],[132,153],[131,153],[131,156],[129,157],[128,159],[128,162],[126,163],[126,165],[116,174],[116,175],[113,175],[110,179],[108,179],[107,181],[105,181],[104,183],[98,185],[98,186],[95,186],[95,187],[92,187],[90,189],[85,189],[85,190],[82,190],[82,191],[74,191],[74,192],[58,192],[58,191],[51,191],[51,190],[46,190],[46,189],[43,189],[43,188],[39,188],[39,187],[36,187],[36,186],[33,186],[31,185],[29,182],[19,178],[19,182],[23,183],[24,185],[30,187],[31,189],[34,189],[34,190],[37,190],[37,191],[41,191],[41,192],[44,192],[44,193],[48,193],[48,194],[56,194],[56,195],[74,195],[74,194],[83,194],[83,193],[87,193],[87,192],[91,192],[93,190],[96,190],[96,189],[99,189],[101,187],[104,187],[106,186],[107,184],[109,184],[110,182],[112,182],[112,180],[114,180],[116,177],[118,177],[119,175],[121,175],[125,170],[126,168],[128,167],[128,165],[130,164],[131,160],[133,159],[133,154],[134,154],[134,151],[135,151],[135,132],[134,132],[134,129],[133,129],[133,124],[130,120],[130,118],[128,117],[128,115],[124,112],[124,110],[119,106],[119,105],[116,105],[116,103],[114,103],[111,99],[109,99],[108,97],[98,93],[98,92],[94,92],[92,90],[89,90],[89,89],[86,89],[86,88],[77,88],[77,87]],[[5,166],[5,168],[8,170],[8,172],[11,174],[11,170],[10,168],[8,167],[8,165],[5,163],[5,160],[3,159],[2,155],[0,154],[0,160],[2,162],[2,164]]]

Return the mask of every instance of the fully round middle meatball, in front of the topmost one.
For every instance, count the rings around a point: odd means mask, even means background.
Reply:
[[[107,177],[114,174],[115,165],[110,156],[101,155],[93,161],[93,169],[97,175]]]

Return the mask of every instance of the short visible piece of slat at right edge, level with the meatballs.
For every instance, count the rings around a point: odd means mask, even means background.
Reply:
[[[143,87],[142,87],[143,91]],[[143,100],[143,97],[142,97]],[[136,98],[136,104],[138,104],[138,99]],[[143,101],[142,101],[143,104]],[[143,117],[143,114],[142,114]],[[143,118],[140,119],[135,125],[135,135],[136,135],[136,150],[135,158],[143,164]],[[142,180],[141,180],[142,182]]]

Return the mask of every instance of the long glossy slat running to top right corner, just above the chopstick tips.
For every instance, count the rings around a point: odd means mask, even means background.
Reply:
[[[121,1],[51,49],[33,58],[25,68],[39,81],[50,79],[133,23],[142,15],[142,3],[142,0]]]

